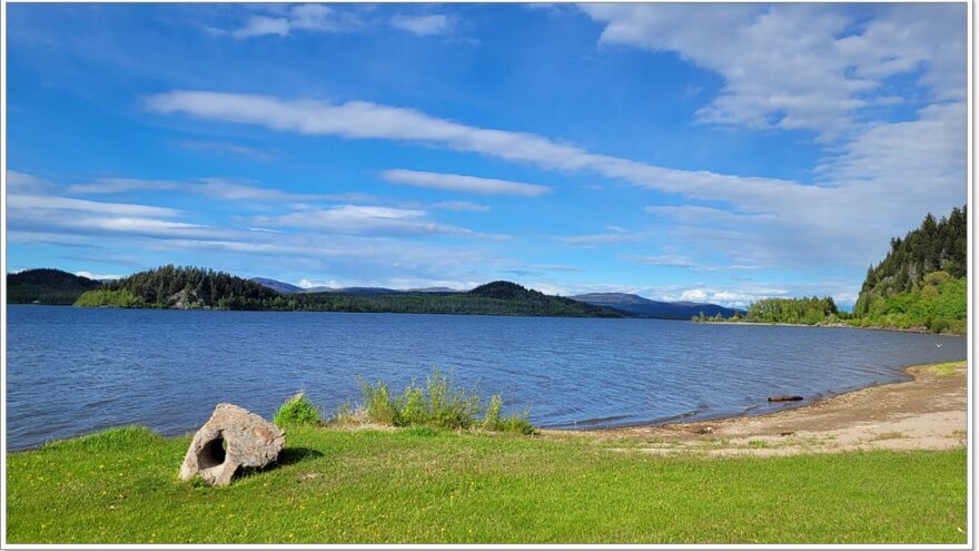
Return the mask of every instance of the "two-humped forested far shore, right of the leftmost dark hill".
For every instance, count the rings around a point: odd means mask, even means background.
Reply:
[[[548,296],[510,282],[493,282],[468,293],[279,294],[222,272],[175,266],[112,282],[85,293],[75,304],[125,308],[623,317],[617,311]]]

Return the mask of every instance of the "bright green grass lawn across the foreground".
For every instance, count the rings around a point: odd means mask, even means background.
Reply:
[[[966,451],[656,457],[592,437],[293,429],[275,469],[184,483],[189,437],[7,456],[8,541],[965,543]]]

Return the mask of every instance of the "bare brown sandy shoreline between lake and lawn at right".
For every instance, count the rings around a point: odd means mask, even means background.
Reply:
[[[838,394],[775,413],[586,434],[616,451],[653,454],[767,456],[963,447],[968,431],[966,362],[918,365],[904,372],[911,381]]]

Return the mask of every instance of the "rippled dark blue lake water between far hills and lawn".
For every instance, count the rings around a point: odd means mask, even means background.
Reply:
[[[535,425],[595,427],[764,413],[962,360],[966,340],[880,331],[592,319],[11,305],[7,443],[120,424],[196,430],[215,404],[270,417],[305,388],[327,411],[357,377],[400,390],[433,368]],[[937,346],[941,343],[941,347]]]

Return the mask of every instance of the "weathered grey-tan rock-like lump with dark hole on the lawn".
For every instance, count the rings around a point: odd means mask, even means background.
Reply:
[[[194,435],[180,479],[199,474],[208,484],[224,486],[239,468],[263,468],[278,457],[286,433],[260,416],[233,404],[218,404]]]

